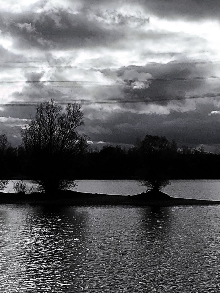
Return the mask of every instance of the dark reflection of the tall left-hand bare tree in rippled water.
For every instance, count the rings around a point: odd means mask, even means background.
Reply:
[[[85,255],[83,241],[87,216],[77,207],[37,207],[28,223],[31,243],[25,279],[35,280],[34,288],[50,292],[76,289],[80,265]],[[66,290],[67,287],[70,291]],[[32,285],[33,287],[33,285]],[[40,291],[39,291],[40,292]]]

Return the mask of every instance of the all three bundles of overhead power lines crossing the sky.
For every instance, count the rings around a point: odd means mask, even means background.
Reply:
[[[220,62],[220,60],[214,59],[190,59],[190,60],[176,60],[173,62],[168,62],[166,64],[156,63],[156,62],[148,62],[145,65],[128,65],[126,67],[147,67],[147,66],[161,66],[161,65],[175,65],[175,64],[197,64],[197,63],[210,63],[210,62]],[[9,65],[1,65],[3,63],[10,63]],[[94,66],[94,64],[104,64],[106,67],[107,64],[120,64],[119,62],[49,62],[49,61],[11,61],[5,60],[0,61],[0,68],[2,67],[19,67],[19,68],[28,68],[28,67],[37,67],[35,66],[15,66],[13,64],[45,64],[48,67],[58,67],[58,68],[91,68],[91,67],[101,67],[101,66]],[[76,65],[69,65],[72,64],[91,64],[91,66],[76,66]],[[141,63],[143,61],[131,61],[131,63]],[[51,66],[50,64],[68,64],[64,66]],[[103,66],[102,66],[103,67]],[[111,65],[110,67],[125,67],[123,64],[120,65]],[[153,81],[190,81],[190,80],[200,80],[200,79],[219,79],[220,76],[196,76],[196,77],[175,77],[175,78],[155,78],[155,79],[142,79],[142,80],[111,80],[111,81],[0,81],[0,88],[35,88],[35,89],[48,89],[48,88],[72,88],[72,87],[111,87],[117,85],[131,85],[135,82],[153,82]],[[57,100],[55,101],[59,105],[66,105],[68,103],[75,103],[75,104],[94,104],[94,103],[154,103],[154,102],[163,102],[163,101],[171,101],[171,100],[185,100],[185,99],[193,99],[193,98],[212,98],[212,97],[220,97],[220,93],[208,93],[205,95],[200,96],[185,96],[185,97],[175,97],[175,98],[154,98],[154,99],[143,99],[143,98],[117,98],[117,99],[97,99],[97,100]],[[4,103],[4,100],[0,99],[0,106],[32,106],[38,105],[42,103],[43,100],[17,100],[11,103]]]

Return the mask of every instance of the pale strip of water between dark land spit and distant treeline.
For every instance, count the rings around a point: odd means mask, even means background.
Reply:
[[[13,192],[13,182],[10,180],[5,192]],[[31,183],[26,182],[29,186]],[[106,193],[119,195],[134,195],[146,190],[136,180],[77,180],[80,192]],[[220,180],[171,180],[163,192],[173,197],[220,200]]]

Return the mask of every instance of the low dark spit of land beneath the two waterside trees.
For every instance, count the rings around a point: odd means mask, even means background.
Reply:
[[[123,205],[143,207],[169,207],[192,205],[220,205],[220,201],[197,200],[170,197],[165,193],[141,193],[138,195],[108,195],[99,193],[81,193],[77,191],[60,191],[55,196],[44,193],[21,195],[0,192],[0,204],[94,206]]]

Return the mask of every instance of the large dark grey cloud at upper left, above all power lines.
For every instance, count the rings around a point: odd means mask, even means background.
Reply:
[[[85,13],[72,14],[61,9],[41,13],[1,15],[1,30],[14,38],[20,48],[65,49],[106,45],[120,40],[124,32],[103,26]]]

